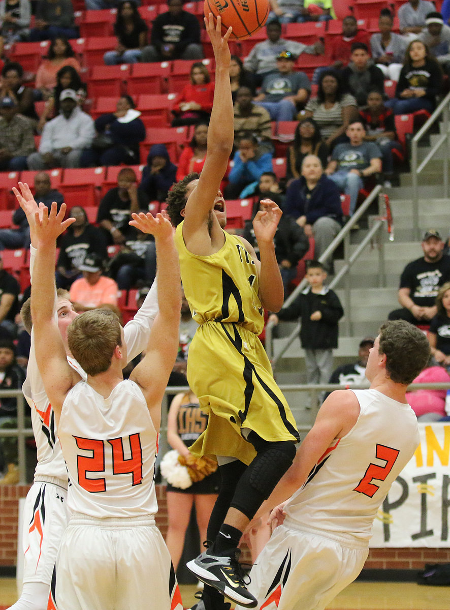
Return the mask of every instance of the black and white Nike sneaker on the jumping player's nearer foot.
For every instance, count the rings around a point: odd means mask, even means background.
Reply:
[[[246,577],[238,561],[240,553],[237,548],[230,555],[215,555],[212,547],[209,547],[198,558],[189,561],[187,567],[199,580],[225,597],[245,608],[255,608],[258,602],[246,588],[249,579],[245,582]]]

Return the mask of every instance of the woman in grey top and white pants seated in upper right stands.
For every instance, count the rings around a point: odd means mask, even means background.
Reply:
[[[389,9],[380,10],[379,32],[370,37],[372,57],[385,78],[398,81],[402,69],[407,40],[392,31],[394,18]]]

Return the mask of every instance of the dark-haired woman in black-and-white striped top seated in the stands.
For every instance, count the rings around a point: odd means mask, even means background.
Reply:
[[[316,121],[329,149],[346,140],[347,127],[357,115],[357,102],[352,95],[344,93],[340,75],[335,70],[324,70],[319,78],[317,97],[305,106],[305,117]]]

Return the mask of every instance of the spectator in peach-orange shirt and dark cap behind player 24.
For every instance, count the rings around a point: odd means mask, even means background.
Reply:
[[[98,254],[86,256],[79,269],[83,277],[76,279],[69,291],[76,311],[88,311],[103,304],[117,305],[117,284],[103,275],[104,261]]]

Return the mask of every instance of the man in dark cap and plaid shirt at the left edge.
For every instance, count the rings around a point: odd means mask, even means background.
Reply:
[[[15,99],[0,99],[0,170],[27,169],[27,156],[35,151],[31,121],[16,112]]]

